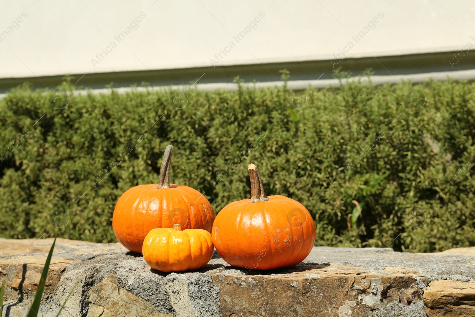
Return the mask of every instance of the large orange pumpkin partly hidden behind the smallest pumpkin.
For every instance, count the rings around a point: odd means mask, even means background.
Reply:
[[[173,146],[168,145],[160,169],[160,183],[138,185],[127,190],[115,204],[112,227],[117,240],[133,251],[142,252],[143,240],[154,228],[204,229],[211,232],[214,211],[197,190],[170,185]]]

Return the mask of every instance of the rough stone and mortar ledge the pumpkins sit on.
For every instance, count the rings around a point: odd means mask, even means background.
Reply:
[[[3,316],[25,316],[53,239],[0,239]],[[57,239],[39,316],[475,316],[475,247],[441,253],[314,247],[294,268],[163,273],[119,243]]]

